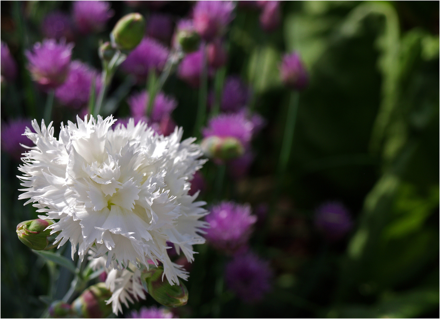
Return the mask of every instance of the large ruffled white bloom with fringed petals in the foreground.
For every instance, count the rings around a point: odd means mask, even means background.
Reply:
[[[164,137],[130,120],[111,129],[113,117],[69,121],[54,138],[51,124],[34,120],[26,135],[36,146],[22,158],[19,199],[29,198],[40,218],[59,219],[49,226],[61,231],[59,246],[70,240],[72,257],[81,259],[93,245],[95,258],[106,255],[106,267],[130,262],[148,267],[163,263],[170,284],[187,273],[173,264],[167,241],[193,261],[192,245],[201,244],[207,224],[199,219],[205,202],[188,195],[189,179],[205,162],[195,138],[181,141],[182,129]]]

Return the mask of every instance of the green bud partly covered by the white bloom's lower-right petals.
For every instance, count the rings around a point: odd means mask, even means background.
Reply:
[[[150,268],[141,275],[141,282],[151,297],[159,304],[176,308],[186,305],[188,302],[188,290],[183,283],[170,285],[166,278],[163,278],[162,267]]]

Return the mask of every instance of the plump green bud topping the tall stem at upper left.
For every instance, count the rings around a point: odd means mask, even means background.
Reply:
[[[114,47],[121,50],[132,50],[142,40],[145,33],[145,19],[140,13],[123,16],[110,33]]]

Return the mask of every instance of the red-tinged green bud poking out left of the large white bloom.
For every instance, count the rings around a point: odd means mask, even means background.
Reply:
[[[51,229],[45,230],[54,224],[50,219],[33,219],[23,221],[17,225],[18,239],[29,248],[34,250],[48,250],[56,245],[53,244],[55,237],[59,234],[50,234]]]

